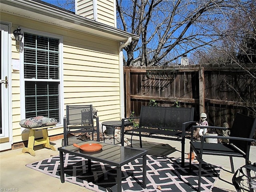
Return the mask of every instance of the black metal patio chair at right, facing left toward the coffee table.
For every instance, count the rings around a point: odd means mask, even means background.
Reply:
[[[201,142],[196,142],[193,139],[193,131],[196,128],[203,128],[202,126],[192,126],[191,140],[190,140],[190,157],[192,151],[196,155],[199,162],[198,165],[198,192],[201,190],[201,169],[203,162],[203,155],[218,155],[229,156],[232,173],[234,173],[234,164],[232,157],[242,157],[247,163],[249,160],[251,142],[254,141],[253,134],[256,128],[256,119],[236,113],[233,126],[230,128],[230,136],[202,136]],[[205,127],[204,127],[205,128]],[[212,129],[229,129],[224,127],[208,126]],[[206,138],[228,139],[229,143],[206,143]],[[191,171],[190,158],[189,166]]]

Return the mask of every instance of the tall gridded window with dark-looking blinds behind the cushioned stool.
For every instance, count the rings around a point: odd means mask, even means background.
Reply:
[[[59,39],[24,33],[26,118],[60,120]]]

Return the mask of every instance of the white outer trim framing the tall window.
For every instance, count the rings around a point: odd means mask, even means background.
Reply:
[[[30,30],[26,28],[22,28],[22,33],[31,33],[36,35],[42,35],[50,38],[59,39],[59,52],[60,52],[60,122],[56,125],[57,127],[63,126],[63,117],[64,117],[64,85],[63,85],[63,37],[45,33],[38,32],[36,30]],[[22,48],[24,49],[24,38],[22,38]],[[24,51],[20,53],[20,117],[21,120],[26,118],[25,111],[25,80],[24,80]],[[21,132],[26,131],[26,128],[21,127]]]

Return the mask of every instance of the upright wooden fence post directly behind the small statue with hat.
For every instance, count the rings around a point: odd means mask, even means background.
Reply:
[[[199,68],[199,111],[205,112],[205,91],[204,91],[204,67]]]

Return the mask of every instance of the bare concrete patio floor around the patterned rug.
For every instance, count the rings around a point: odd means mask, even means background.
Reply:
[[[118,140],[118,137],[116,138]],[[138,146],[138,139],[133,138],[133,146]],[[129,140],[129,137],[128,137]],[[144,138],[144,148],[150,150],[150,153],[168,154],[168,157],[180,158],[180,142],[160,140],[154,138]],[[106,139],[106,142],[113,143],[112,139]],[[28,153],[22,153],[22,149],[4,151],[0,153],[0,191],[18,191],[18,192],[92,192],[84,187],[72,184],[70,182],[61,183],[60,179],[48,176],[41,172],[26,167],[26,164],[50,158],[59,154],[57,148],[62,146],[62,140],[51,142],[56,151],[36,146],[36,156]],[[162,144],[165,144],[162,146]],[[189,140],[186,139],[186,153],[189,152]],[[185,156],[187,157],[187,156]],[[217,180],[212,192],[233,192],[236,191],[232,185],[232,176],[230,172],[230,161],[228,157],[221,156],[203,156],[204,161],[211,164],[224,166],[220,178]],[[250,160],[256,162],[256,146],[250,150]],[[235,170],[244,165],[243,158],[234,158]]]

